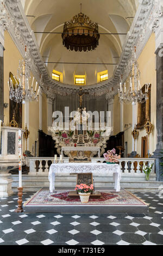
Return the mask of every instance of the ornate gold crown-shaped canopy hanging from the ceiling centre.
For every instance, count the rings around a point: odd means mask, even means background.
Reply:
[[[74,16],[71,21],[65,22],[62,33],[63,45],[71,51],[91,51],[98,45],[98,23],[92,22],[82,13]]]

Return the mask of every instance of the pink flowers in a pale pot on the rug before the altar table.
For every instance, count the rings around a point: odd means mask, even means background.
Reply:
[[[85,204],[89,202],[90,194],[93,191],[93,184],[88,186],[81,183],[80,185],[76,185],[75,190],[78,192],[82,204]]]

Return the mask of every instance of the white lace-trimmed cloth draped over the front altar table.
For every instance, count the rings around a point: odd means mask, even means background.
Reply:
[[[107,163],[52,163],[49,168],[49,190],[52,193],[55,190],[55,174],[76,174],[76,173],[92,173],[92,174],[112,174],[115,181],[116,192],[120,191],[121,168],[119,164]]]

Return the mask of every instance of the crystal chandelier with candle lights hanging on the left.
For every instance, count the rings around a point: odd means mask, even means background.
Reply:
[[[18,66],[18,80],[13,76],[10,77],[8,82],[9,86],[9,97],[17,103],[25,103],[26,101],[37,100],[40,92],[40,86],[37,88],[37,82],[34,87],[34,77],[32,80],[32,86],[29,87],[30,80],[30,58],[28,58],[27,50],[25,47],[24,60],[19,62]]]

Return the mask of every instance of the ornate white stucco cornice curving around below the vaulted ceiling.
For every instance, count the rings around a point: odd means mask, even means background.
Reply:
[[[137,9],[130,31],[126,36],[126,41],[122,47],[122,54],[114,70],[114,75],[105,82],[93,84],[92,86],[84,86],[84,90],[90,92],[90,94],[95,96],[104,93],[110,95],[116,94],[121,74],[124,74],[123,80],[126,80],[128,76],[128,72],[126,71],[127,63],[129,62],[134,46],[137,47],[136,54],[139,57],[152,31],[156,31],[159,27],[162,16],[162,9],[160,11],[162,0],[140,0],[139,2],[139,8]],[[65,95],[76,92],[78,90],[76,86],[63,84],[49,77],[47,68],[40,55],[35,35],[29,26],[20,0],[1,0],[0,12],[0,31],[7,29],[22,56],[24,55],[25,41],[28,42],[26,45],[29,49],[29,57],[32,59],[31,69],[37,81],[39,81],[40,74],[42,74],[44,83],[42,87],[43,92],[51,98],[53,98],[54,93]],[[112,87],[114,88],[113,91]]]

